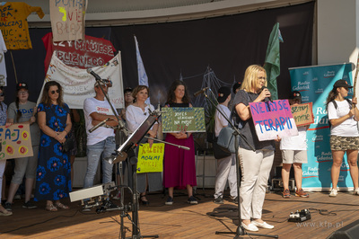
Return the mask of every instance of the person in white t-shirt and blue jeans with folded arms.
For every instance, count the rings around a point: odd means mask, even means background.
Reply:
[[[108,92],[112,84],[101,82],[104,93]],[[83,113],[87,132],[87,171],[83,181],[83,187],[89,188],[93,185],[93,179],[97,172],[99,160],[102,159],[102,183],[112,181],[112,166],[106,160],[106,157],[112,155],[116,150],[115,132],[113,128],[99,127],[90,133],[90,129],[103,120],[107,120],[106,126],[118,126],[118,120],[114,115],[109,102],[105,99],[105,94],[102,92],[100,84],[97,82],[94,85],[95,97],[87,98],[83,102]],[[113,109],[115,107],[112,105]],[[108,204],[112,207],[114,204]],[[88,211],[87,207],[83,211]]]

